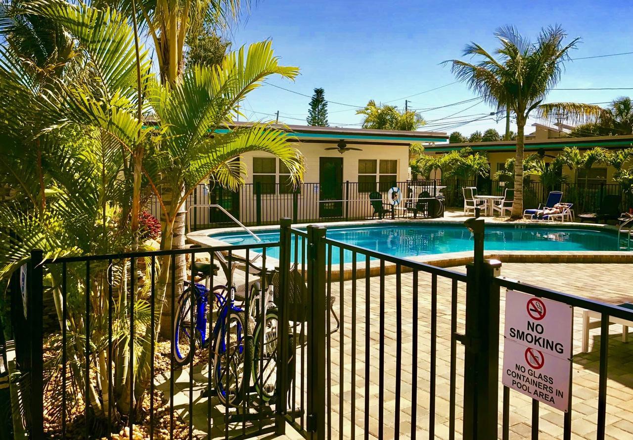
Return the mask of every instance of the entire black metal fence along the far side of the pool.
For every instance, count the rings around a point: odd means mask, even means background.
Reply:
[[[327,185],[325,193],[324,185]],[[506,185],[505,182],[488,181],[486,185],[479,184],[479,192],[501,196]],[[392,211],[387,206],[387,194],[391,186],[401,191],[401,203],[394,206]],[[415,205],[420,192],[441,196],[446,207],[463,208],[463,188],[469,186],[477,187],[478,182],[460,179],[445,182],[406,180],[391,183],[388,187],[384,184],[368,186],[362,182],[344,182],[334,186],[303,183],[294,191],[280,184],[245,184],[238,191],[222,187],[210,189],[208,184],[201,184],[187,199],[186,206],[191,207],[187,211],[187,224],[191,230],[235,226],[235,222],[217,208],[201,206],[208,204],[219,204],[245,225],[275,225],[282,217],[291,218],[293,223],[410,218],[413,217],[413,210],[407,207]],[[380,213],[374,208],[369,197],[371,191],[379,192],[386,212]],[[577,213],[598,212],[606,195],[620,196],[622,211],[633,207],[633,194],[623,193],[618,184],[561,184],[548,188],[541,182],[530,181],[525,184],[523,191],[525,209],[536,208],[539,203],[544,203],[549,191],[563,191],[563,201],[573,203]],[[155,198],[149,199],[147,208],[154,217],[160,218],[160,204]]]

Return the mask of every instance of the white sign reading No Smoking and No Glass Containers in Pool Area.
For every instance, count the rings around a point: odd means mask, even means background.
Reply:
[[[573,308],[523,292],[506,294],[503,384],[569,410]]]

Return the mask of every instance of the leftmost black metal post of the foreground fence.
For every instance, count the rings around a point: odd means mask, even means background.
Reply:
[[[30,431],[32,440],[44,439],[44,326],[42,297],[44,295],[44,252],[33,249],[27,269],[27,324],[30,336]]]

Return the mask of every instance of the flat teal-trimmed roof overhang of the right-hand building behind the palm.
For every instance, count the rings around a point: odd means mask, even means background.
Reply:
[[[566,147],[577,147],[579,149],[590,149],[603,147],[608,149],[628,148],[633,146],[633,135],[620,136],[594,136],[594,137],[562,137],[560,139],[545,139],[543,141],[525,141],[525,149],[535,151],[546,149],[549,151],[560,150]],[[517,141],[499,142],[463,142],[460,144],[436,144],[425,147],[427,153],[443,153],[470,147],[473,151],[487,151],[489,153],[503,153],[505,151],[515,151]]]

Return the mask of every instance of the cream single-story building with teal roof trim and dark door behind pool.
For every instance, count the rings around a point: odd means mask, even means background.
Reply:
[[[239,125],[248,122],[237,123]],[[237,125],[236,124],[236,125]],[[240,160],[246,165],[246,184],[232,192],[216,187],[199,189],[188,206],[220,204],[242,223],[276,223],[280,217],[298,222],[365,218],[372,215],[369,194],[387,198],[398,186],[406,196],[411,144],[446,142],[438,132],[368,130],[308,125],[273,125],[289,129],[289,141],[304,156],[304,183],[294,188],[289,172],[272,154],[253,151]],[[193,208],[190,220],[198,226],[225,218],[215,210]]]

